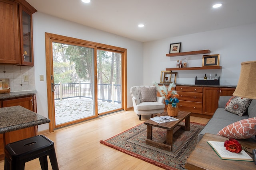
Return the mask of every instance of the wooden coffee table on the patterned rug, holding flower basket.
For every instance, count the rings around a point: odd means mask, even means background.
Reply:
[[[157,147],[159,149],[172,151],[172,135],[175,133],[178,129],[181,127],[185,131],[190,131],[190,113],[189,111],[179,111],[178,116],[176,116],[176,119],[179,119],[178,121],[171,121],[166,123],[156,123],[152,120],[147,120],[144,122],[145,125],[147,125],[147,139],[146,144]],[[162,113],[160,116],[168,115],[167,113]],[[185,119],[185,126],[178,125],[181,121]],[[163,137],[160,141],[156,142],[152,140],[152,127],[159,127],[162,129],[166,129],[167,133],[166,136]]]

